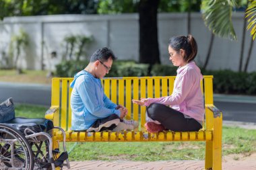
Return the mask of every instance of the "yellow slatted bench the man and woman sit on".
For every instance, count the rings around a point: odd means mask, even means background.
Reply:
[[[131,99],[141,97],[161,97],[172,93],[175,77],[119,77],[104,78],[104,92],[115,103],[125,105],[129,110],[127,119],[140,122],[137,131],[125,132],[73,132],[71,127],[71,108],[69,107],[73,78],[53,78],[51,110],[45,118],[53,120],[55,126],[65,130],[66,142],[136,142],[136,141],[205,141],[205,169],[222,169],[222,112],[213,101],[212,76],[204,76],[201,90],[205,101],[205,122],[199,132],[148,133],[146,107],[133,104]],[[61,142],[61,133],[53,133],[54,148]]]

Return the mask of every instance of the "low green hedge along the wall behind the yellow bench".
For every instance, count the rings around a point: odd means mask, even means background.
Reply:
[[[88,65],[88,61],[65,61],[57,65],[56,75],[73,77]],[[133,60],[113,62],[106,77],[143,77],[177,75],[177,67],[170,65],[139,64]],[[203,75],[214,75],[214,93],[256,95],[256,72],[238,73],[230,70],[201,71]]]

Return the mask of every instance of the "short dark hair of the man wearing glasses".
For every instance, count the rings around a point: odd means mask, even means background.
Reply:
[[[96,60],[100,60],[101,62],[106,62],[108,58],[112,58],[112,60],[117,59],[112,50],[110,50],[107,47],[103,47],[96,50],[94,54],[92,54],[90,58],[90,62],[94,62]]]

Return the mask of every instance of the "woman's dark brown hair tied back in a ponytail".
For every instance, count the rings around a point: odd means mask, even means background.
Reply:
[[[197,55],[197,42],[193,36],[174,36],[169,40],[169,46],[176,51],[185,50],[184,60],[190,62]]]

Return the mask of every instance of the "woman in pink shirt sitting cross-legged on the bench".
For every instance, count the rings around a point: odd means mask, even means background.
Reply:
[[[169,60],[177,69],[172,95],[159,98],[133,99],[133,103],[147,106],[148,132],[162,130],[197,131],[204,118],[201,71],[193,61],[197,42],[193,36],[174,36],[168,44]]]

